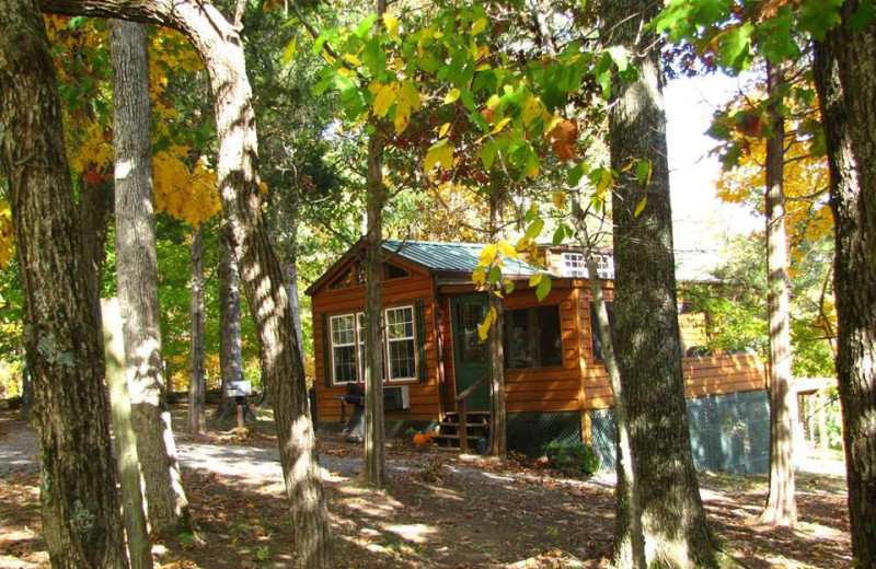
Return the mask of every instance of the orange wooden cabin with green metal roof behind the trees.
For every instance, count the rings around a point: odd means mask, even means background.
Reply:
[[[487,373],[488,348],[476,332],[486,312],[487,297],[471,282],[482,249],[483,245],[468,243],[384,243],[388,436],[402,436],[410,428],[434,429],[441,421],[457,423],[457,397]],[[365,244],[360,242],[308,289],[313,304],[316,417],[321,429],[337,428],[343,413],[341,398],[347,385],[365,378],[364,252]],[[601,363],[601,345],[592,333],[592,298],[584,257],[569,246],[542,247],[540,256],[553,279],[552,290],[542,302],[528,286],[529,278],[540,270],[538,267],[507,259],[504,268],[506,277],[517,281],[505,301],[504,324],[509,448],[538,454],[551,440],[584,440],[597,448],[603,463],[611,461],[607,465],[611,466],[613,400]],[[599,278],[609,301],[613,295],[612,277],[611,256],[602,252]],[[749,355],[701,356],[705,353],[705,315],[680,314],[679,320],[687,356],[683,368],[689,416],[691,402],[730,397],[729,405],[735,410],[727,413],[737,426],[734,432],[739,430],[740,420],[759,425],[765,409],[764,365]],[[740,404],[739,394],[749,394],[749,399],[753,396],[757,404],[752,406],[748,399]],[[716,416],[715,409],[728,405],[718,399],[707,405],[712,416]],[[746,413],[739,411],[740,405]],[[487,382],[471,390],[465,408],[470,422],[486,421]],[[695,419],[692,417],[693,422]],[[719,420],[727,422],[726,417]],[[476,438],[482,431],[463,428],[461,432]],[[733,432],[728,436],[736,437]],[[738,448],[739,441],[727,443],[723,436],[718,437],[706,443],[702,454],[721,454],[728,444]],[[752,444],[745,439],[741,444],[746,453],[751,449],[760,453],[763,449],[759,440]],[[696,453],[694,444],[695,456]],[[718,469],[742,472],[760,469],[751,466],[751,456],[745,458],[742,467],[721,468],[726,461],[722,463],[721,456],[716,460],[700,461],[700,465],[714,468],[717,464]]]

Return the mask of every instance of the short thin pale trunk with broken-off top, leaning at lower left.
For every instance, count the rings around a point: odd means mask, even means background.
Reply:
[[[118,125],[116,124],[116,127]],[[118,483],[122,488],[122,516],[128,545],[131,569],[152,569],[152,543],[146,526],[146,512],[140,490],[140,460],[137,456],[137,434],[131,421],[128,397],[125,341],[122,332],[122,313],[117,299],[102,303],[103,349],[106,358],[106,384],[113,418],[113,438],[116,442]]]

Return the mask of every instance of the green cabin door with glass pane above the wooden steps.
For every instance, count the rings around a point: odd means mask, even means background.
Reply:
[[[489,372],[489,342],[477,337],[477,326],[484,322],[486,311],[486,293],[450,297],[457,395]],[[470,411],[489,410],[489,380],[466,397],[465,408]]]

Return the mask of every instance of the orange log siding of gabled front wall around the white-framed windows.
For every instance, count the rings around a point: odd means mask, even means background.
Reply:
[[[351,262],[353,263],[353,262]],[[426,357],[426,381],[384,381],[383,386],[407,385],[411,393],[411,408],[405,411],[387,411],[388,420],[405,421],[434,421],[440,416],[439,407],[439,386],[438,386],[438,350],[436,344],[436,318],[434,303],[433,277],[428,271],[400,259],[393,260],[394,265],[404,267],[410,271],[410,276],[384,279],[383,281],[383,307],[384,310],[393,306],[414,305],[416,301],[423,301],[424,325],[420,327],[414,323],[415,334],[419,329],[425,330],[425,357]],[[346,268],[337,271],[342,275]],[[341,397],[346,392],[346,385],[335,385],[331,379],[326,386],[326,349],[323,338],[328,338],[331,342],[331,330],[323,334],[323,315],[326,322],[331,316],[339,314],[355,314],[365,311],[365,286],[351,286],[342,289],[331,289],[326,282],[312,294],[313,298],[313,352],[316,373],[316,407],[320,423],[337,423],[341,419]],[[416,314],[416,311],[415,311]],[[416,316],[415,316],[416,318]],[[418,339],[416,340],[418,341]],[[415,346],[416,346],[415,341]],[[327,350],[331,360],[331,349]],[[418,364],[419,362],[417,362]],[[328,370],[331,371],[331,370]],[[347,416],[351,408],[347,407]]]

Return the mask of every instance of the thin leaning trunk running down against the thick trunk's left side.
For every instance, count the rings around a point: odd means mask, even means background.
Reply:
[[[618,508],[626,512],[626,519],[630,524],[630,547],[624,551],[624,554],[629,551],[630,557],[623,559],[619,565],[634,569],[645,569],[647,562],[645,560],[645,536],[642,533],[642,498],[636,477],[633,449],[630,444],[630,418],[626,410],[626,396],[623,393],[621,371],[618,368],[618,357],[614,353],[614,339],[611,337],[611,323],[609,322],[609,311],[602,295],[602,283],[599,280],[596,260],[593,260],[593,246],[587,232],[587,219],[578,204],[573,205],[573,216],[578,241],[587,263],[587,280],[590,282],[590,293],[593,295],[593,309],[599,324],[596,333],[599,334],[599,340],[602,344],[602,363],[609,374],[611,394],[614,398],[614,422],[618,428],[618,465],[615,468],[619,478],[618,485],[620,487],[620,477],[621,473],[623,473],[623,478],[629,489],[626,492],[618,492],[618,499],[623,500],[623,503],[619,503]]]

